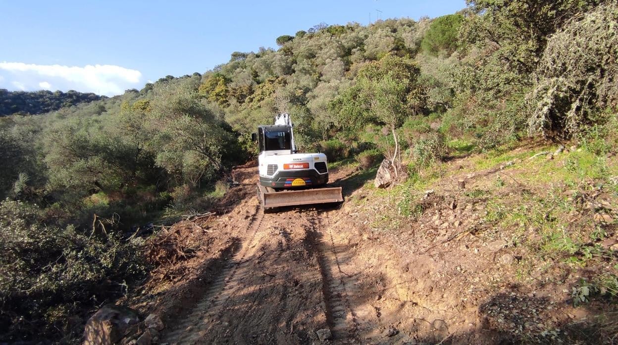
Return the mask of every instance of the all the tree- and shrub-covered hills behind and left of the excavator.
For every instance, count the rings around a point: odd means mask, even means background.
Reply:
[[[615,131],[617,25],[612,1],[477,0],[282,33],[278,49],[112,98],[0,90],[14,114],[0,118],[0,341],[78,336],[72,315],[147,272],[129,231],[210,207],[277,112],[300,149],[386,156],[408,179],[527,138]]]

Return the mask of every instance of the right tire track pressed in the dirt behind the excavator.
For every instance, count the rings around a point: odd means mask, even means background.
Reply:
[[[311,219],[313,244],[318,247],[318,262],[323,282],[323,296],[326,304],[326,322],[335,340],[358,341],[357,317],[351,307],[344,278],[337,257],[337,250],[328,224],[328,212],[317,212]],[[326,241],[323,238],[326,237]]]

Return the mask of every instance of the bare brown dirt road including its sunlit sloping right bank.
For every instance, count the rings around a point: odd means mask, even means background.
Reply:
[[[350,172],[334,173],[345,180]],[[237,168],[232,202],[217,222],[221,256],[202,267],[184,293],[166,294],[162,343],[435,344],[492,343],[475,331],[475,307],[438,285],[427,256],[373,238],[344,206],[299,207],[264,214],[255,167]],[[356,184],[357,188],[360,184]],[[360,190],[360,189],[358,189]],[[344,188],[348,196],[352,189]],[[210,230],[209,230],[210,231]],[[407,249],[408,250],[408,249]],[[439,275],[438,275],[439,276]],[[444,278],[445,281],[448,276]],[[448,283],[444,283],[446,286]],[[182,290],[181,289],[181,290]],[[189,291],[188,293],[186,291]],[[172,297],[170,297],[172,296]],[[466,308],[470,307],[469,310]],[[329,339],[319,339],[329,330]],[[462,332],[459,339],[451,333]],[[456,341],[454,341],[456,340]]]

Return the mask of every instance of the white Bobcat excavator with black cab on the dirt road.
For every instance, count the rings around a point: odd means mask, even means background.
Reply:
[[[265,210],[344,201],[341,187],[325,187],[326,155],[296,151],[289,114],[277,115],[274,125],[259,126],[252,138],[260,147],[258,198]]]

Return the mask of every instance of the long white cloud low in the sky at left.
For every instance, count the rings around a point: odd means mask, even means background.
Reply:
[[[48,88],[46,86],[53,84],[63,91],[75,89],[108,96],[121,94],[125,89],[139,86],[142,78],[140,71],[116,65],[77,67],[5,61],[0,62],[0,72],[2,71],[10,72],[10,75],[4,73],[4,77],[11,79],[12,85],[18,88],[16,83],[19,83],[23,89]],[[45,77],[48,81],[40,81],[40,77]]]

